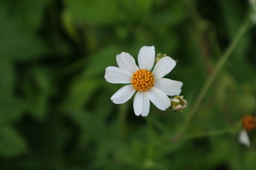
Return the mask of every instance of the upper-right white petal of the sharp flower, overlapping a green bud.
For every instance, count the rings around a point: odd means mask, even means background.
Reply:
[[[155,76],[155,80],[158,78],[162,78],[166,74],[170,73],[172,69],[176,66],[175,60],[173,60],[171,57],[163,57],[160,59],[154,68],[153,74]]]

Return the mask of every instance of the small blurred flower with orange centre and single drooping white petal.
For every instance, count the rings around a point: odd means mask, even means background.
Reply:
[[[252,116],[245,116],[242,120],[243,130],[239,133],[238,140],[243,145],[250,147],[250,138],[248,136],[248,132],[256,129],[256,118]]]

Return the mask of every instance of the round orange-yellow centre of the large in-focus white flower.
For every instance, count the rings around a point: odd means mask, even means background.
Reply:
[[[132,74],[132,86],[134,89],[145,92],[154,86],[154,75],[147,69],[139,69]]]

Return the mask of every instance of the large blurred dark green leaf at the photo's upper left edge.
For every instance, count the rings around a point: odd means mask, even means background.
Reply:
[[[3,7],[0,6],[1,57],[9,60],[40,57],[45,52],[45,46],[35,38],[35,35],[24,31],[20,25],[15,23]]]

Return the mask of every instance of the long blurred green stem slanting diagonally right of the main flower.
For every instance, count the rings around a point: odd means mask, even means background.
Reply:
[[[246,32],[246,30],[248,29],[250,24],[251,24],[251,20],[250,20],[250,17],[249,17],[249,19],[246,19],[244,24],[240,27],[240,29],[237,32],[237,34],[236,34],[235,38],[233,39],[232,43],[228,46],[225,53],[223,53],[220,60],[217,62],[216,67],[215,67],[213,73],[211,74],[211,76],[209,76],[209,78],[205,81],[204,86],[202,87],[202,90],[200,91],[200,93],[196,97],[196,101],[195,101],[195,104],[193,105],[193,108],[191,109],[191,111],[188,114],[188,118],[186,119],[184,125],[180,129],[177,136],[175,136],[173,138],[173,140],[179,140],[181,138],[181,136],[184,134],[184,132],[186,131],[186,129],[188,128],[189,124],[191,123],[191,120],[193,119],[196,111],[198,110],[198,107],[202,103],[202,99],[204,99],[205,94],[209,90],[209,87],[211,87],[212,82],[214,81],[214,79],[216,78],[218,73],[220,72],[221,68],[227,62],[228,57],[230,57],[230,54],[233,52],[233,50],[236,47],[239,40],[243,37],[244,33]]]

